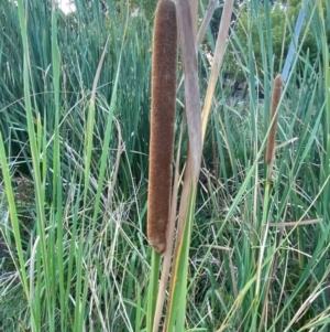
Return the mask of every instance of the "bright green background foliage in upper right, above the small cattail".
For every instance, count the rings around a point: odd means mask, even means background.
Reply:
[[[320,1],[323,10],[329,10],[329,3],[326,0]],[[273,58],[268,60],[267,68],[271,72],[280,72],[284,61],[287,57],[292,35],[295,31],[295,25],[301,9],[300,0],[290,1],[273,1],[273,4],[265,1],[265,6],[260,8],[257,14],[253,13],[251,6],[242,3],[239,7],[240,20],[234,25],[237,38],[241,45],[229,46],[227,56],[229,57],[227,67],[228,75],[232,76],[237,72],[238,63],[242,62],[244,54],[248,54],[249,41],[253,43],[253,55],[258,72],[262,72],[265,65],[263,53],[271,52]],[[308,18],[314,15],[314,2],[309,2],[304,7],[307,20],[304,21],[302,31],[298,39],[300,47],[300,56],[309,60],[311,65],[318,61],[320,45],[316,35],[318,33],[318,24],[309,21]],[[264,29],[266,24],[272,24],[271,34]],[[326,22],[327,42],[330,43],[330,28]],[[262,50],[268,44],[270,50]],[[304,67],[304,64],[302,64]],[[299,65],[298,65],[299,68]],[[243,72],[239,75],[241,81],[244,81]]]

